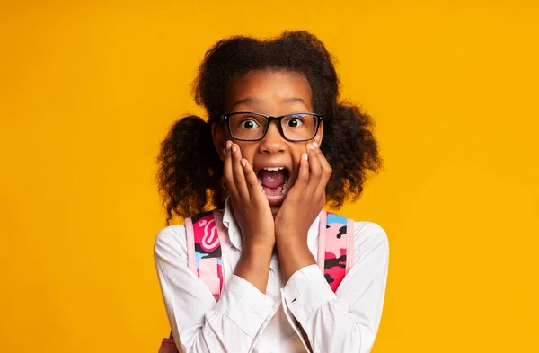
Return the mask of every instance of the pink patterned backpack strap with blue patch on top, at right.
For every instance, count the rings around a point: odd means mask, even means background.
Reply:
[[[331,212],[320,213],[318,265],[335,292],[354,264],[354,221]]]

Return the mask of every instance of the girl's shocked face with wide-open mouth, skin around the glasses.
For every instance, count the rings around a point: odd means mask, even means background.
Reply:
[[[288,71],[252,71],[235,79],[225,92],[225,113],[238,111],[256,112],[270,116],[281,116],[297,112],[313,111],[311,87],[304,75]],[[273,215],[294,185],[299,171],[299,162],[306,146],[316,141],[322,142],[323,124],[316,136],[309,141],[290,142],[279,132],[278,122],[272,121],[266,136],[259,141],[234,140],[225,124],[214,126],[213,137],[217,152],[224,158],[225,142],[232,140],[242,152],[243,158],[251,163],[259,182],[268,177],[268,168],[284,168],[286,183],[278,196],[266,190]]]

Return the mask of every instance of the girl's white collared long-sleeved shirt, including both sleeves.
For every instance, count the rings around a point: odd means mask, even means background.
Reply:
[[[299,269],[283,283],[274,254],[263,294],[234,275],[242,234],[228,202],[225,205],[223,223],[229,241],[221,243],[225,286],[217,303],[189,269],[185,226],[169,225],[155,239],[155,268],[178,349],[185,353],[307,352],[299,323],[314,353],[369,352],[384,304],[389,259],[384,230],[375,223],[355,222],[355,263],[336,293],[317,265]],[[318,233],[317,217],[307,235],[314,259]]]

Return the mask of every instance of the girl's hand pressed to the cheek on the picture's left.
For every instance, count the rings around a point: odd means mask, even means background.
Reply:
[[[226,141],[223,175],[234,218],[242,230],[243,251],[272,252],[275,227],[270,203],[251,164],[242,158],[240,146],[232,141]]]

